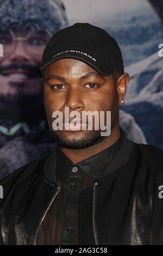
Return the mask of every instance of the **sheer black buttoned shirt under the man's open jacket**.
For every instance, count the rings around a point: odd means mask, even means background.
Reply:
[[[80,194],[92,187],[109,162],[120,150],[124,134],[111,147],[76,164],[57,147],[56,180],[60,191],[44,218],[37,245],[78,245]]]

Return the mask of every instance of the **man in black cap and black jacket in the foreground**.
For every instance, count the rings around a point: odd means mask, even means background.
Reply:
[[[1,244],[162,244],[163,152],[129,141],[119,125],[129,75],[115,39],[75,23],[52,36],[40,70],[58,147],[1,180]],[[85,111],[103,119],[89,129]]]

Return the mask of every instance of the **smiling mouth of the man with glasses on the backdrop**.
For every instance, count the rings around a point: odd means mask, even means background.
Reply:
[[[36,77],[36,72],[28,69],[8,69],[1,71],[1,75],[12,78],[32,78]]]

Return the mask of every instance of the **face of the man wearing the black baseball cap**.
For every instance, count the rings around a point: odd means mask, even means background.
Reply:
[[[52,113],[65,107],[72,111],[111,111],[111,125],[118,123],[119,100],[115,74],[102,76],[86,63],[72,58],[57,60],[48,65],[43,75],[44,105],[50,129],[61,147],[82,149],[105,139],[101,130],[52,129]],[[99,126],[100,127],[100,126]]]

